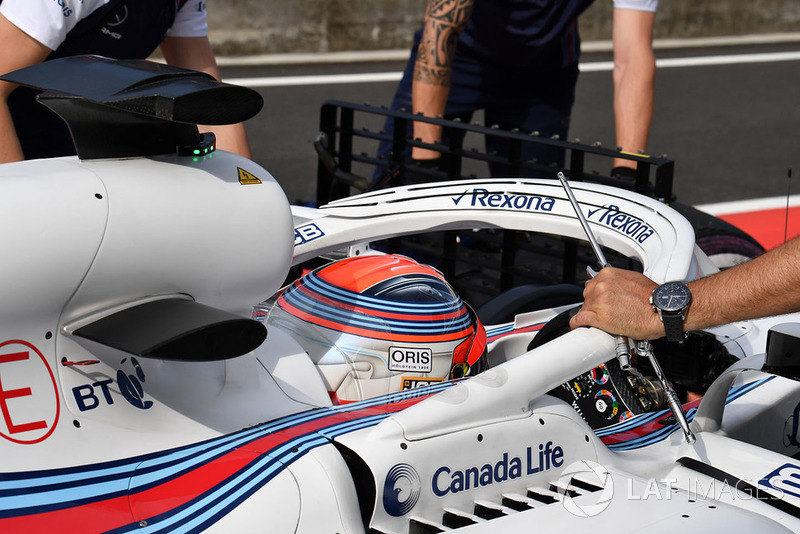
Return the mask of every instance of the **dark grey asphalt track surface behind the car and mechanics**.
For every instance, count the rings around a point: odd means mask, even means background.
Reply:
[[[800,42],[656,50],[653,155],[675,160],[675,193],[694,205],[800,194]],[[611,54],[584,50],[570,139],[614,146]],[[247,123],[254,159],[290,201],[314,198],[312,147],[329,99],[388,105],[404,61],[226,66],[265,106]],[[480,119],[480,117],[478,117]],[[740,211],[740,210],[739,210]]]

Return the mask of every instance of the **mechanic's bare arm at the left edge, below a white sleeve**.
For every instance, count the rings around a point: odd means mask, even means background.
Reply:
[[[0,13],[0,72],[8,72],[41,63],[51,50],[45,45],[14,26]],[[0,82],[0,163],[24,159],[14,122],[8,111],[8,95],[17,88],[16,84]]]

